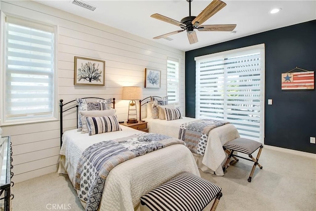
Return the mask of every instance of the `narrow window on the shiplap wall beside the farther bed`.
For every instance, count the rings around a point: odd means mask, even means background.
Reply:
[[[168,104],[179,103],[179,60],[167,59],[167,95]]]

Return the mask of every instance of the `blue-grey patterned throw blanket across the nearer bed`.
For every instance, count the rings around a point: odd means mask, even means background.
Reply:
[[[78,163],[75,189],[79,190],[80,200],[86,202],[86,211],[98,209],[111,169],[124,161],[172,144],[185,143],[166,135],[141,133],[102,141],[85,149]]]

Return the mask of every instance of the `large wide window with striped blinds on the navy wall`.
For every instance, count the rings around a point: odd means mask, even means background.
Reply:
[[[263,143],[264,44],[196,57],[196,117],[231,122]]]

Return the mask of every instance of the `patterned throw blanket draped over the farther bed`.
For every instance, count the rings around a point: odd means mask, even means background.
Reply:
[[[204,155],[209,131],[226,124],[229,122],[211,119],[184,123],[180,126],[179,139],[187,144],[191,152]]]

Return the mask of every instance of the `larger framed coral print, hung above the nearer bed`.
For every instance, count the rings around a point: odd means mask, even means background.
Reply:
[[[105,61],[75,56],[75,85],[105,85]]]

